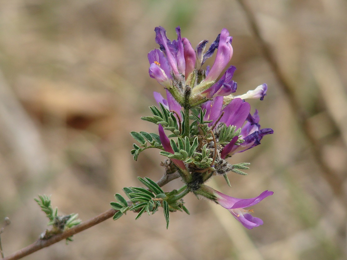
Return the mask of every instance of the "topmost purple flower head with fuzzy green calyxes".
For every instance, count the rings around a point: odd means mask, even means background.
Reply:
[[[200,42],[194,51],[189,40],[181,37],[180,27],[176,28],[177,40],[172,42],[166,36],[163,27],[155,27],[154,31],[155,41],[159,44],[160,50],[153,50],[148,55],[150,76],[167,87],[181,104],[187,85],[192,88],[191,102],[194,104],[205,101],[205,97],[210,99],[215,96],[228,96],[235,92],[237,84],[231,80],[236,69],[234,66],[229,67],[222,78],[215,82],[232,57],[232,37],[226,28],[222,29],[206,53],[204,50],[208,41]],[[203,70],[202,64],[212,57],[216,49],[217,55],[213,66],[211,69],[208,67]],[[197,69],[195,69],[196,61]],[[192,77],[189,77],[190,75]],[[172,90],[172,87],[178,91]]]

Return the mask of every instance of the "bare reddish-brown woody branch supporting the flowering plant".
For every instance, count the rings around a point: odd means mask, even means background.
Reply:
[[[164,176],[161,177],[161,179],[157,182],[157,184],[159,185],[159,187],[162,187],[165,184],[169,183],[170,181],[177,179],[179,176],[180,175],[178,172],[171,173],[171,174],[164,174]],[[112,208],[108,209],[105,212],[99,214],[98,216],[95,216],[95,217],[93,217],[93,218],[91,218],[85,222],[82,222],[79,225],[76,225],[72,228],[67,229],[63,233],[53,235],[52,237],[50,237],[49,239],[46,239],[46,240],[39,239],[35,243],[28,245],[23,249],[18,250],[17,252],[9,255],[8,257],[3,258],[2,260],[16,260],[16,259],[23,258],[26,255],[32,254],[36,251],[39,251],[40,249],[43,249],[45,247],[48,247],[52,244],[55,244],[55,243],[61,241],[61,240],[64,240],[69,236],[75,235],[79,232],[84,231],[87,228],[95,226],[95,225],[113,217],[113,215],[115,215],[117,212],[118,212],[118,210],[115,210]]]

